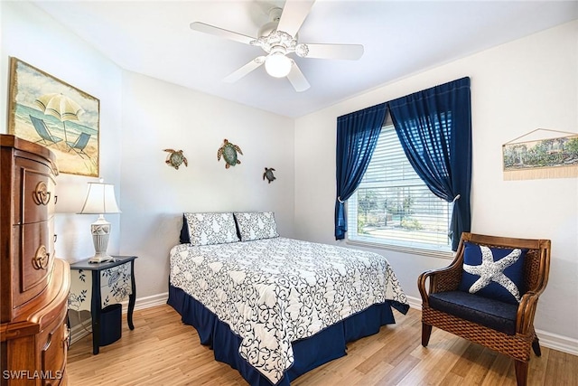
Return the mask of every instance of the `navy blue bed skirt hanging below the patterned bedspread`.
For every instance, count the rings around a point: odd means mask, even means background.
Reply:
[[[221,322],[208,308],[181,288],[172,286],[169,286],[167,303],[182,316],[182,323],[195,327],[200,336],[200,344],[210,346],[217,361],[228,363],[237,369],[252,386],[272,385],[265,376],[241,358],[238,353],[241,338],[233,334],[228,324]],[[344,356],[348,342],[377,334],[382,325],[396,323],[392,307],[403,314],[409,309],[409,306],[397,302],[370,306],[367,310],[351,315],[309,338],[294,342],[294,365],[285,372],[277,386],[289,386],[291,381],[303,373]]]

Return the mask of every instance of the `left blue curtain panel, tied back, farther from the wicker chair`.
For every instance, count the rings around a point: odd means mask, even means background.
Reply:
[[[335,240],[345,237],[344,202],[355,192],[368,168],[386,113],[387,105],[382,103],[337,118]]]

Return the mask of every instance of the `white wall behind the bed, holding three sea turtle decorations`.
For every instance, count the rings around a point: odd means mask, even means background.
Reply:
[[[182,212],[273,211],[280,234],[293,235],[293,119],[125,72],[122,127],[121,253],[139,257],[138,297],[167,291]],[[225,138],[243,152],[228,169],[217,160]],[[166,165],[166,148],[189,166]]]

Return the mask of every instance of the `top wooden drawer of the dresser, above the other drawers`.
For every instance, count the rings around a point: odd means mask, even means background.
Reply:
[[[51,169],[27,158],[16,158],[16,171],[14,224],[47,220],[56,203]]]

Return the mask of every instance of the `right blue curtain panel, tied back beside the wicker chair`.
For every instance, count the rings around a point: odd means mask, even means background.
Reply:
[[[387,103],[409,162],[436,196],[454,202],[449,237],[456,250],[471,230],[470,78]]]

